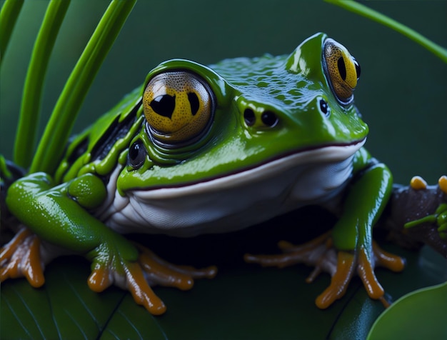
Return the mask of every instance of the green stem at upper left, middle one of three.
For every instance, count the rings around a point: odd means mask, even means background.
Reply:
[[[69,0],[50,1],[34,43],[31,61],[26,73],[24,93],[21,98],[19,126],[17,126],[14,143],[14,162],[24,168],[28,168],[31,164],[46,69],[48,69],[51,51],[53,51],[54,42],[69,4]]]

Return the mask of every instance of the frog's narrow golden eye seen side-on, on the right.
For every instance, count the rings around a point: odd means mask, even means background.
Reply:
[[[343,104],[353,99],[353,91],[360,77],[360,65],[348,50],[333,39],[327,39],[323,60],[334,94]]]

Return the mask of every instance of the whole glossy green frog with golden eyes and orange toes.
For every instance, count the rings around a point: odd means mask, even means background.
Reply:
[[[281,56],[162,62],[69,141],[54,172],[9,185],[6,206],[19,228],[1,249],[1,281],[24,276],[42,286],[46,264],[78,254],[91,261],[90,289],[114,284],[164,314],[153,286],[191,289],[216,266],[171,264],[126,234],[228,233],[318,204],[337,214],[331,231],[246,261],[311,261],[312,277],[328,271],[321,309],[356,273],[385,301],[375,267],[401,271],[405,262],[372,237],[393,177],[364,147],[368,126],[353,97],[360,74],[348,49],[323,33]]]

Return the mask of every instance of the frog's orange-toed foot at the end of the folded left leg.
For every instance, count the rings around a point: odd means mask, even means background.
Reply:
[[[195,269],[189,266],[176,266],[160,259],[144,246],[135,244],[139,249],[137,261],[114,259],[94,261],[89,276],[89,287],[93,291],[104,291],[111,284],[131,292],[134,301],[144,306],[151,314],[160,315],[166,311],[163,301],[151,289],[151,286],[171,286],[181,290],[191,289],[194,279],[213,278],[216,267]]]

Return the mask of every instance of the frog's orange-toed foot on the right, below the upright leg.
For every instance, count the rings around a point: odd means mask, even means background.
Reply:
[[[405,265],[405,261],[401,257],[383,251],[375,242],[373,242],[369,254],[363,247],[353,252],[336,251],[330,232],[301,246],[293,246],[286,241],[279,242],[278,246],[283,254],[246,254],[245,260],[249,263],[261,264],[261,266],[277,266],[279,268],[299,263],[315,266],[311,275],[306,279],[308,283],[316,279],[321,271],[327,271],[331,274],[331,284],[315,301],[316,306],[320,309],[326,309],[334,301],[341,299],[356,273],[363,281],[363,286],[371,299],[380,299],[383,304],[387,305],[383,298],[385,292],[374,274],[374,267],[384,266],[392,271],[401,271]]]

